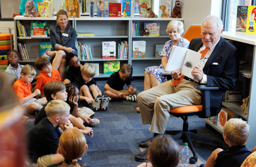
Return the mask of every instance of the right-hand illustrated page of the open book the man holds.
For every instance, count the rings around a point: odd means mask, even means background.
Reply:
[[[193,68],[199,64],[200,57],[200,53],[188,49],[186,57],[184,58],[184,62],[181,67],[181,74],[198,82],[197,77],[192,76],[191,72]]]

